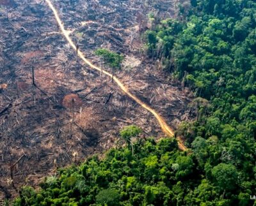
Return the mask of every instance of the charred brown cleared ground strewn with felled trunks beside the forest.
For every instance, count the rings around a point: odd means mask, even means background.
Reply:
[[[170,1],[54,1],[65,28],[93,63],[97,48],[123,54],[116,76],[173,127],[193,118],[190,92],[166,80],[143,54],[147,13],[175,16]],[[168,9],[167,9],[168,8]],[[171,10],[170,10],[171,8]],[[35,185],[45,174],[124,142],[137,124],[163,136],[156,119],[84,65],[70,49],[44,1],[0,0],[0,199]]]

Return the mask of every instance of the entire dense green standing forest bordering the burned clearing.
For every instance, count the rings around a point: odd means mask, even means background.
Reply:
[[[195,92],[196,121],[177,131],[193,152],[132,141],[132,126],[127,147],[22,189],[15,205],[256,205],[256,1],[192,0],[145,38],[148,57]]]

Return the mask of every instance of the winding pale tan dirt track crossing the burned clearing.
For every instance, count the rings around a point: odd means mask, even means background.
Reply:
[[[68,32],[65,30],[65,27],[63,26],[63,22],[61,22],[61,19],[58,15],[58,11],[54,8],[53,4],[51,3],[50,0],[45,0],[49,7],[51,8],[52,12],[54,13],[54,16],[56,18],[56,21],[58,22],[58,25],[60,26],[61,32],[63,33],[63,35],[65,36],[65,38],[67,39],[68,43],[71,45],[72,48],[74,48],[74,50],[77,50],[76,45],[74,44],[74,42],[71,40]],[[92,64],[90,61],[88,61],[88,59],[86,59],[84,57],[84,54],[78,50],[77,55],[79,55],[79,57],[81,57],[81,59],[83,59],[84,63],[88,64],[88,66],[90,66],[91,68],[98,70],[98,71],[102,71],[105,75],[112,77],[111,73],[108,73],[108,71],[102,70],[101,68],[99,68],[98,66],[95,66],[94,64]],[[127,94],[127,96],[129,96],[130,98],[132,98],[134,101],[136,101],[136,103],[138,103],[139,105],[141,105],[141,107],[145,108],[146,110],[148,110],[149,112],[151,112],[157,119],[157,121],[159,122],[159,125],[161,126],[161,129],[163,130],[163,133],[167,136],[174,136],[174,132],[173,129],[171,129],[168,124],[166,124],[166,122],[164,121],[163,117],[161,117],[161,115],[157,114],[156,110],[150,108],[146,103],[143,103],[143,101],[141,101],[139,98],[137,98],[134,94],[132,94],[131,92],[129,92],[129,90],[127,89],[127,87],[125,87],[124,84],[122,84],[122,82],[120,82],[120,80],[117,77],[114,77],[113,80],[116,82],[116,84],[122,89],[122,91],[125,92],[125,94]],[[178,137],[178,144],[179,144],[179,149],[181,151],[186,151],[187,148],[184,145],[184,143],[182,142],[182,140]]]

